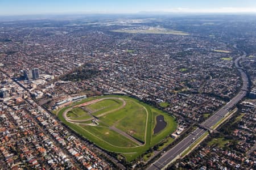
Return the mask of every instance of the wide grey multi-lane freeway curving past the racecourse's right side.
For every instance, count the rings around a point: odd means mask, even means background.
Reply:
[[[243,52],[243,56],[238,57],[235,60],[235,65],[238,71],[241,74],[241,78],[243,81],[243,86],[238,92],[236,96],[233,97],[232,100],[229,101],[224,107],[214,113],[211,117],[205,120],[200,126],[201,128],[197,128],[191,134],[189,134],[186,138],[184,138],[181,142],[179,142],[175,147],[171,148],[171,150],[167,151],[164,155],[162,155],[156,162],[148,167],[148,170],[154,169],[163,169],[168,165],[172,160],[174,160],[177,156],[179,156],[183,151],[185,151],[193,142],[199,139],[204,133],[207,132],[207,129],[210,129],[213,125],[216,125],[223,117],[236,105],[243,97],[246,96],[247,91],[249,90],[249,79],[243,70],[240,67],[240,59],[246,57],[246,53]]]

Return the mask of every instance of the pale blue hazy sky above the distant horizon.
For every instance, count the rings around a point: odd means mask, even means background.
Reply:
[[[256,12],[256,0],[0,0],[0,15]]]

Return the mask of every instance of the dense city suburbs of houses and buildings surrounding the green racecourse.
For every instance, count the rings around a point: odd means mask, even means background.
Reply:
[[[0,22],[1,167],[255,169],[256,22],[219,17]],[[246,89],[239,69],[248,78]],[[195,150],[156,164],[240,91],[246,96],[228,108],[225,121],[205,129],[209,134]],[[174,142],[126,162],[54,114],[109,94],[135,97],[174,116]]]

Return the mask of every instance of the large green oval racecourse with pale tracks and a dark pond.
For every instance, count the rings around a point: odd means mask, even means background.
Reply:
[[[176,130],[174,117],[127,96],[90,97],[60,109],[57,114],[72,130],[105,150],[125,156],[127,161]],[[157,121],[161,115],[164,120]],[[161,122],[164,124],[159,126]],[[156,130],[158,127],[160,131]]]

